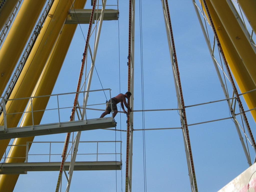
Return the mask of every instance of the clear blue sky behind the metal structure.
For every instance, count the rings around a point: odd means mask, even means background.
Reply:
[[[204,40],[192,1],[169,0],[177,59],[185,105],[224,99],[217,73]],[[90,8],[90,1],[86,8]],[[107,4],[116,4],[108,0]],[[120,84],[121,93],[127,91],[128,55],[128,1],[119,2],[120,11]],[[134,110],[142,109],[139,1],[135,7],[135,77]],[[81,25],[86,35],[88,24]],[[209,29],[209,26],[208,26]],[[170,65],[168,43],[161,1],[142,1],[142,38],[144,66],[144,108],[177,108],[177,99]],[[213,38],[212,38],[213,39]],[[92,46],[91,42],[91,46]],[[85,41],[80,27],[71,42],[52,94],[76,91]],[[118,21],[104,21],[95,61],[103,88],[110,88],[112,97],[119,94]],[[90,63],[89,63],[90,65]],[[72,67],[71,67],[72,66]],[[91,90],[101,89],[97,74],[93,73]],[[228,90],[232,92],[228,83]],[[108,96],[108,94],[107,94]],[[231,97],[231,95],[230,95]],[[91,94],[88,104],[104,103],[102,92]],[[54,101],[49,102],[49,106]],[[73,98],[63,100],[72,106]],[[247,109],[247,105],[244,107]],[[104,109],[104,106],[99,107]],[[188,124],[229,117],[225,101],[186,109]],[[69,120],[70,111],[66,113]],[[87,111],[87,118],[97,118],[100,111]],[[45,113],[41,123],[48,123],[50,114]],[[255,122],[247,113],[253,134]],[[55,122],[56,116],[51,116]],[[62,117],[65,119],[65,116]],[[116,116],[117,129],[126,129],[126,115]],[[241,122],[241,121],[240,121]],[[177,111],[145,112],[145,128],[179,127]],[[142,113],[134,112],[134,129],[142,129]],[[115,135],[116,134],[116,135]],[[248,168],[238,134],[231,119],[189,126],[195,172],[199,191],[217,191]],[[80,141],[122,140],[123,170],[117,171],[117,191],[125,190],[125,141],[126,132],[93,130],[82,132]],[[65,141],[66,134],[38,136],[34,141]],[[147,191],[190,191],[188,168],[184,151],[182,130],[154,130],[145,132]],[[79,152],[92,152],[95,146],[81,146]],[[102,146],[102,152],[112,153],[115,146]],[[45,153],[48,148],[38,144],[30,153]],[[62,152],[62,145],[56,146]],[[117,151],[120,150],[117,145]],[[252,159],[254,152],[250,148]],[[43,158],[43,157],[42,157]],[[47,159],[47,157],[45,157]],[[83,158],[78,157],[80,161]],[[111,158],[114,158],[112,156]],[[56,157],[57,159],[57,157]],[[59,158],[60,159],[60,158]],[[57,160],[56,160],[57,161]],[[60,160],[59,160],[60,161]],[[134,131],[133,137],[132,190],[144,190],[143,136]],[[75,171],[70,191],[115,191],[115,171]],[[121,178],[122,173],[122,178]],[[20,175],[14,191],[53,191],[58,172],[28,172]],[[63,177],[63,182],[65,176]],[[66,184],[64,185],[66,186]],[[65,187],[64,187],[65,188]],[[63,188],[63,190],[64,190]]]

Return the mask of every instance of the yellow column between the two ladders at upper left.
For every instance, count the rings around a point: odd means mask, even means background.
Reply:
[[[26,42],[34,29],[37,18],[44,7],[45,1],[46,0],[25,0],[20,7],[17,17],[15,18],[5,41],[3,42],[0,49],[0,94],[3,93]],[[8,0],[7,3],[8,2],[15,1]],[[0,15],[0,22],[2,14],[3,13]]]

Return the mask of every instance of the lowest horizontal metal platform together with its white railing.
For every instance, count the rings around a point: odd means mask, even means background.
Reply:
[[[71,145],[73,145],[72,142]],[[122,166],[122,142],[121,141],[79,141],[80,144],[96,144],[96,152],[94,153],[78,153],[78,156],[89,156],[96,155],[95,161],[77,161],[74,163],[74,170],[120,170]],[[99,144],[109,144],[109,143],[120,143],[120,152],[119,153],[99,153]],[[29,148],[31,145],[38,144],[49,144],[49,154],[37,153],[29,154]],[[27,142],[26,145],[16,145],[17,147],[26,147],[25,157],[10,157],[10,158],[22,158],[25,159],[24,163],[5,163],[5,160],[8,159],[6,153],[2,159],[4,162],[1,167],[0,175],[2,174],[27,174],[28,171],[58,171],[60,169],[60,162],[56,162],[52,159],[55,159],[56,156],[61,154],[52,153],[52,146],[56,144],[64,144],[64,142],[50,141],[50,142]],[[14,145],[8,145],[12,147]],[[71,147],[72,148],[72,147]],[[102,155],[119,155],[120,161],[99,161],[99,157]],[[72,156],[72,150],[69,150],[67,157]],[[35,162],[35,160],[30,160],[30,158],[35,159],[36,156],[45,157],[49,156],[48,162]],[[70,162],[64,163],[65,170],[69,170]]]

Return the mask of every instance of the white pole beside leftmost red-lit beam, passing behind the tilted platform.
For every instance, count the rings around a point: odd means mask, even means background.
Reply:
[[[90,75],[89,75],[89,80],[88,80],[86,91],[90,90],[91,79],[92,79],[92,72],[93,72],[93,68],[94,68],[94,62],[95,62],[95,58],[96,58],[96,54],[97,54],[97,49],[98,49],[98,44],[99,44],[99,39],[100,39],[100,32],[101,32],[102,21],[103,21],[103,16],[104,16],[104,10],[105,10],[105,5],[106,5],[106,0],[102,0],[102,1],[103,2],[102,2],[102,11],[101,11],[101,16],[100,16],[99,28],[98,28],[97,37],[96,37],[95,44],[94,44],[95,48],[94,48],[94,52],[93,52],[93,61],[92,61],[92,65],[91,65],[91,70],[90,70]],[[82,119],[84,119],[84,114],[85,114],[86,105],[87,105],[87,101],[88,101],[88,93],[89,92],[86,92],[86,95],[85,95],[85,98],[84,98],[84,108],[83,108],[82,117],[81,117]],[[78,131],[77,132],[77,136],[76,136],[76,141],[75,141],[75,144],[74,144],[73,155],[72,155],[72,158],[70,160],[69,179],[68,179],[68,184],[67,184],[66,192],[69,192],[69,189],[70,189],[70,184],[71,184],[71,179],[72,179],[73,170],[74,170],[74,163],[76,161],[76,156],[77,156],[77,150],[78,150],[78,145],[79,145],[79,141],[80,141],[80,136],[81,136],[81,131]]]

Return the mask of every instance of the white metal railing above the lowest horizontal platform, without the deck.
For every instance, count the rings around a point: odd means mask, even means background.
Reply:
[[[29,154],[29,148],[31,147],[32,143],[34,143],[33,146],[35,146],[35,144],[49,144],[49,153],[38,153],[38,154],[30,153]],[[26,145],[25,144],[24,145],[8,145],[7,148],[9,148],[9,147],[26,147],[25,157],[8,157],[8,152],[7,152],[7,149],[6,149],[4,157],[2,157],[2,161],[1,162],[2,163],[6,163],[7,159],[25,159],[25,163],[28,163],[29,162],[29,156],[37,156],[37,157],[49,156],[49,161],[47,161],[47,162],[56,162],[56,161],[51,161],[51,157],[53,157],[53,156],[60,156],[61,157],[61,155],[62,155],[61,153],[59,153],[59,154],[58,153],[52,153],[53,145],[54,144],[58,144],[58,143],[63,144],[64,142],[62,142],[62,141],[38,141],[38,142],[33,141],[33,142],[27,142]],[[69,142],[69,143],[72,143],[72,142]],[[97,144],[97,147],[96,147],[94,153],[77,153],[77,155],[79,155],[79,156],[82,156],[82,155],[84,155],[84,156],[94,155],[95,156],[94,157],[95,161],[98,161],[98,159],[99,159],[98,157],[99,156],[103,156],[103,155],[104,156],[106,156],[106,155],[108,155],[108,156],[119,155],[120,156],[120,162],[122,161],[122,141],[80,141],[79,143],[80,143],[80,145],[82,143],[83,144],[88,144],[88,143],[95,143],[95,144]],[[99,153],[99,143],[104,143],[104,145],[106,145],[107,143],[109,143],[109,144],[110,143],[120,143],[120,152],[119,153],[115,153],[115,152],[113,152],[113,153]],[[82,146],[80,146],[80,148],[81,147]],[[115,149],[113,149],[113,150],[115,150]],[[69,152],[67,154],[67,157],[69,155],[72,155],[72,150],[71,150],[71,152]],[[38,158],[38,159],[41,160],[41,158]],[[115,158],[113,159],[113,161],[115,161]],[[42,161],[39,161],[38,163],[41,163],[41,162]]]

